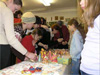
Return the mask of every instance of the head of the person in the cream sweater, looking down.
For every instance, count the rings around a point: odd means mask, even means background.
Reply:
[[[6,4],[8,8],[10,8],[13,13],[15,13],[16,11],[21,9],[22,0],[8,0]]]

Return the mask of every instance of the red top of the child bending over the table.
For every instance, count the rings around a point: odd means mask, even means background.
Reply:
[[[22,39],[21,43],[29,52],[35,53],[35,46],[32,44],[33,40],[32,35],[28,35]],[[21,60],[17,58],[17,62],[19,63]]]

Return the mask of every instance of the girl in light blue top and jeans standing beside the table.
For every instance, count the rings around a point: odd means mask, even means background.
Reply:
[[[68,22],[68,28],[73,33],[70,44],[70,55],[72,57],[71,75],[79,75],[80,55],[83,48],[83,38],[77,29],[78,25],[75,19],[71,19]]]

